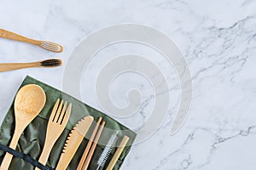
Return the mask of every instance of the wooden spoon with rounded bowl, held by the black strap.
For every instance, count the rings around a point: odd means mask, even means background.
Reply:
[[[44,108],[46,96],[43,88],[35,84],[29,84],[20,88],[15,98],[15,133],[9,147],[14,149],[18,144],[21,133],[38,116]],[[0,170],[8,170],[12,155],[6,153]]]

